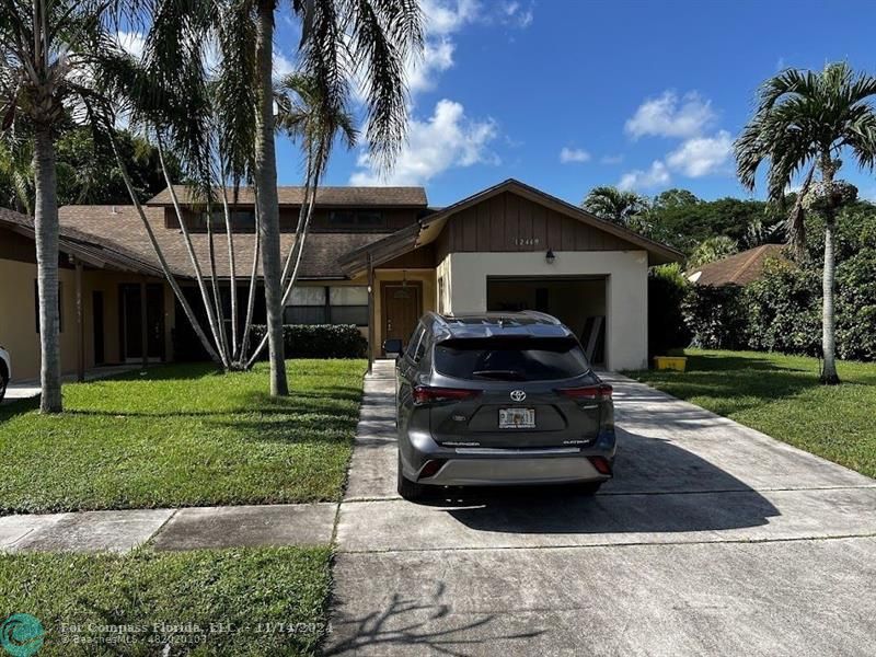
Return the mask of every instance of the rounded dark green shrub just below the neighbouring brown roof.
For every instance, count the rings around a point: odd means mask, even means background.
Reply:
[[[747,345],[747,316],[742,292],[742,288],[735,285],[691,286],[681,310],[694,346],[704,349],[739,349]]]

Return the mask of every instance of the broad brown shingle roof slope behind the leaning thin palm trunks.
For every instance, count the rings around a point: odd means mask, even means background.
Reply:
[[[173,273],[177,276],[194,276],[182,232],[178,229],[164,228],[164,208],[145,207],[143,211]],[[159,266],[146,229],[134,206],[65,206],[58,210],[58,216],[65,230],[73,229],[88,235],[101,235],[110,239],[138,254],[153,266]],[[208,275],[208,237],[203,232],[191,234],[201,272]],[[299,275],[301,278],[342,278],[344,274],[337,264],[337,258],[342,254],[384,238],[387,234],[389,233],[311,233],[308,237],[308,246],[304,250]],[[293,242],[293,233],[280,234],[280,252],[284,257]],[[231,267],[224,232],[216,233],[214,243],[217,274],[228,277],[231,275]],[[238,276],[249,275],[254,247],[255,234],[234,233]]]

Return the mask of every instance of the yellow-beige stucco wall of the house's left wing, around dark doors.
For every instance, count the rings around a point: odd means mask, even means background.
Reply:
[[[77,368],[77,311],[76,270],[62,268],[58,272],[61,283],[61,371],[76,372]],[[87,269],[83,273],[83,320],[85,334],[85,367],[94,366],[94,326],[92,291],[104,292],[104,358],[106,364],[119,362],[118,286],[123,283],[139,284],[137,275]],[[39,335],[36,333],[36,299],[34,290],[36,265],[0,260],[0,345],[12,358],[13,380],[39,377]],[[149,283],[158,279],[150,278]],[[173,293],[164,285],[164,335],[165,354],[173,353],[171,331],[173,328]]]

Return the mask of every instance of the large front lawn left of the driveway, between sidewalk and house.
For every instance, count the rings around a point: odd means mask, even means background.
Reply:
[[[0,407],[0,512],[338,499],[366,362],[288,368],[281,400],[266,364],[198,364],[65,385],[58,416]]]

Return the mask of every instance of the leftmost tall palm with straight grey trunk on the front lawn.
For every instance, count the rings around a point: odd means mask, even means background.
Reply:
[[[66,106],[89,95],[85,78],[118,51],[103,22],[107,8],[94,0],[0,3],[0,129],[4,140],[33,140],[43,413],[62,411],[57,126],[64,123]]]

